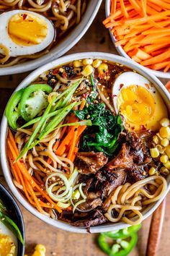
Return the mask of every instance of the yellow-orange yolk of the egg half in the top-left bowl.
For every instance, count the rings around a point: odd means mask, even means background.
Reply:
[[[34,46],[46,38],[48,25],[34,14],[14,14],[9,20],[8,33],[19,46]]]

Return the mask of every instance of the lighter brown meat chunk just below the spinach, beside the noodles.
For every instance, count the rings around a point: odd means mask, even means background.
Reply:
[[[102,152],[81,152],[77,154],[77,164],[82,174],[95,174],[108,161]]]

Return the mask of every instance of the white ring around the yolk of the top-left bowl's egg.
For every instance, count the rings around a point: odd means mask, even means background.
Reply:
[[[42,41],[42,43],[39,43],[35,46],[19,46],[16,43],[12,41],[8,34],[8,24],[9,20],[14,14],[33,14],[37,17],[39,17],[42,20],[45,20],[48,25],[48,34],[46,35],[46,38]],[[23,55],[30,55],[35,54],[39,51],[42,51],[45,49],[49,44],[53,41],[54,38],[54,27],[52,22],[48,20],[46,17],[37,14],[35,12],[29,12],[24,10],[14,10],[10,12],[4,12],[0,15],[0,44],[3,44],[8,48],[9,50],[9,56],[15,57],[15,56],[23,56]],[[0,50],[0,52],[3,54],[3,52]]]

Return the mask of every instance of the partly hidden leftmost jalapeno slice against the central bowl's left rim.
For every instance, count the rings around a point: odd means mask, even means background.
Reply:
[[[9,126],[14,130],[17,129],[17,119],[19,119],[21,116],[18,106],[23,93],[24,89],[18,90],[16,93],[14,93],[9,99],[9,103],[6,107],[6,118]]]

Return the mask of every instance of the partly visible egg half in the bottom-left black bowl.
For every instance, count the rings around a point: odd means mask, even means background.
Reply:
[[[17,237],[0,221],[0,255],[17,256]]]

